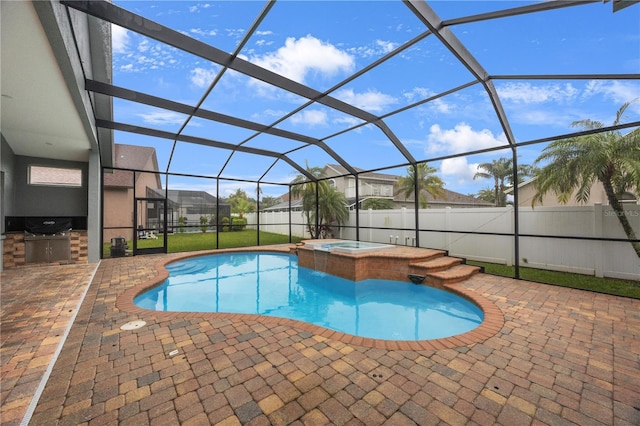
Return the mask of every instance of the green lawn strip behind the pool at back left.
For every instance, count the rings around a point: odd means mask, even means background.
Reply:
[[[169,253],[179,253],[185,251],[211,250],[216,248],[215,232],[193,232],[184,234],[168,235],[167,251]],[[292,243],[297,243],[300,238],[291,237]],[[289,242],[288,235],[273,234],[271,232],[260,232],[260,245],[286,244]],[[138,240],[138,248],[162,247],[162,236],[157,240]],[[128,241],[129,249],[133,248],[133,242]],[[254,230],[221,232],[219,248],[251,247],[258,245],[258,236]],[[110,243],[103,246],[105,256],[110,255]]]

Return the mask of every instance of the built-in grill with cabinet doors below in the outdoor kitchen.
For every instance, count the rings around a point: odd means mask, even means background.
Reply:
[[[25,262],[63,262],[71,259],[71,219],[25,219]]]

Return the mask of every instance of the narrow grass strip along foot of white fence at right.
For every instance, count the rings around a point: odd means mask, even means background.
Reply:
[[[474,261],[468,261],[467,263],[470,265],[484,266],[484,271],[487,274],[500,275],[503,277],[513,277],[515,274],[515,268],[513,266]],[[520,278],[529,281],[640,299],[640,282],[638,281],[598,278],[592,275],[523,268],[522,266],[520,267]]]

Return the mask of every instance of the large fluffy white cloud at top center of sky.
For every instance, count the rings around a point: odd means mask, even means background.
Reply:
[[[299,83],[304,83],[310,73],[333,75],[349,72],[355,66],[351,55],[311,35],[287,38],[285,45],[275,52],[250,61]]]

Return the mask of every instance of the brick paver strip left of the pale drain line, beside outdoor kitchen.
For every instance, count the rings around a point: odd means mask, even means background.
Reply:
[[[0,275],[0,421],[19,424],[96,265],[17,268]]]

